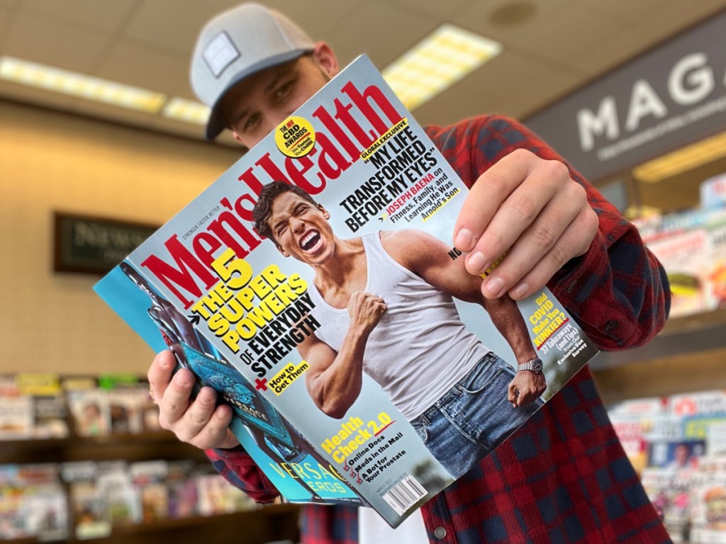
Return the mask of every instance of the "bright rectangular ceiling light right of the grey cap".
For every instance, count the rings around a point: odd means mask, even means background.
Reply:
[[[441,25],[383,70],[409,110],[452,86],[502,51],[502,44],[454,25]]]

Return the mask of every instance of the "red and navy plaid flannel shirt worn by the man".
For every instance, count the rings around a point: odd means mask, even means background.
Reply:
[[[428,127],[436,146],[471,186],[512,152],[563,161],[522,125],[481,116]],[[664,324],[669,289],[640,235],[582,176],[600,218],[590,250],[547,284],[601,350],[648,342]],[[240,450],[209,450],[216,468],[253,498],[277,490]],[[356,508],[303,506],[303,544],[354,544]],[[431,543],[668,543],[670,539],[616,437],[590,370],[582,368],[509,440],[426,503]]]

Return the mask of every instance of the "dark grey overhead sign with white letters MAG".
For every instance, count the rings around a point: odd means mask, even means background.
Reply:
[[[726,128],[726,12],[525,124],[590,181]]]

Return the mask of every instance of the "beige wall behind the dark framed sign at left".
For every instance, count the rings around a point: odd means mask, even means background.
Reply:
[[[91,290],[52,271],[52,212],[161,224],[239,154],[0,102],[0,373],[134,372],[153,353]]]

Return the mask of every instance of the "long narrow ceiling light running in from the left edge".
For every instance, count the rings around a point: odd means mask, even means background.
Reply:
[[[0,78],[142,112],[158,113],[166,102],[166,94],[13,57],[0,58]]]

